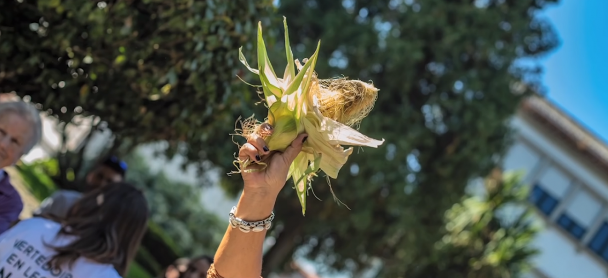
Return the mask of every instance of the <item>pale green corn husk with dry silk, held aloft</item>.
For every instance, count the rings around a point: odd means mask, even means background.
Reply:
[[[242,47],[239,49],[241,63],[260,77],[264,101],[268,106],[266,122],[274,127],[274,133],[268,135],[261,132],[261,123],[253,117],[241,122],[242,127],[237,131],[244,137],[252,133],[261,134],[271,151],[285,151],[299,134],[308,134],[288,174],[288,179],[294,181],[302,214],[305,214],[306,196],[313,176],[323,170],[329,178],[337,178],[348,156],[353,153],[353,147],[345,149],[342,145],[377,148],[384,139],[372,139],[353,128],[370,112],[378,89],[371,84],[346,78],[319,80],[314,66],[320,41],[314,54],[301,64],[299,60],[294,60],[291,52],[285,18],[283,24],[287,66],[282,78],[277,76],[268,58],[261,23],[258,24],[257,69],[249,66]],[[266,161],[257,164],[265,166]],[[254,163],[238,162],[243,168]]]

